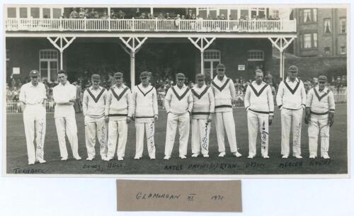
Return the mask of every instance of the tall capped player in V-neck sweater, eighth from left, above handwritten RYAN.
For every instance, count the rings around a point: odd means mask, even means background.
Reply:
[[[241,157],[242,154],[237,149],[235,122],[232,114],[232,104],[236,103],[236,91],[234,82],[225,76],[224,64],[217,64],[217,76],[213,79],[211,86],[215,98],[215,127],[219,157],[226,155],[224,130],[227,133],[230,151],[235,157]]]

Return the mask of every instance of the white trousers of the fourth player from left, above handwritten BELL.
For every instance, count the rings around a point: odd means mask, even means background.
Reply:
[[[128,135],[128,124],[126,120],[109,120],[108,122],[108,152],[107,157],[113,159],[115,154],[115,147],[117,146],[118,137],[118,148],[117,156],[124,157],[125,155],[125,145],[127,144]]]

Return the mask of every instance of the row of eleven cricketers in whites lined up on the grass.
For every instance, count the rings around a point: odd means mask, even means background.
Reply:
[[[217,65],[217,76],[210,86],[205,85],[205,76],[195,76],[196,85],[185,86],[185,75],[176,74],[176,86],[166,93],[167,113],[166,142],[164,159],[171,158],[176,131],[179,134],[179,157],[185,159],[188,150],[188,137],[192,127],[191,157],[209,157],[210,129],[215,121],[218,156],[226,155],[225,137],[234,157],[241,157],[236,142],[236,130],[232,104],[236,101],[236,91],[232,79],[225,75],[224,64]],[[329,159],[329,127],[333,125],[334,98],[326,88],[326,76],[319,76],[319,86],[306,95],[304,84],[297,79],[298,69],[291,66],[287,79],[280,83],[276,96],[281,112],[281,154],[290,155],[290,129],[292,128],[292,156],[302,158],[301,127],[302,113],[305,110],[305,123],[309,124],[309,158],[317,157],[318,137],[321,137],[321,157]],[[141,84],[132,91],[123,84],[123,74],[114,74],[115,86],[108,91],[100,86],[101,77],[91,76],[92,86],[84,91],[83,113],[85,123],[85,142],[88,157],[96,157],[96,138],[100,144],[101,159],[110,161],[125,158],[128,124],[135,121],[135,159],[142,158],[144,135],[147,137],[147,151],[150,159],[156,159],[154,142],[155,123],[159,119],[156,89],[149,82],[151,73],[140,74]],[[23,106],[23,122],[28,150],[28,164],[36,161],[45,163],[45,86],[38,82],[39,72],[30,72],[31,81],[21,88],[20,101]],[[55,126],[62,161],[68,159],[65,135],[72,148],[73,157],[80,160],[78,136],[74,111],[75,87],[67,81],[64,71],[58,72],[59,84],[53,89],[55,101]],[[274,115],[273,95],[268,84],[263,81],[263,72],[256,69],[255,81],[246,89],[245,109],[249,130],[249,158],[256,157],[256,140],[261,133],[261,157],[268,156],[269,126]],[[225,136],[226,132],[226,136]],[[36,146],[34,145],[34,140]]]

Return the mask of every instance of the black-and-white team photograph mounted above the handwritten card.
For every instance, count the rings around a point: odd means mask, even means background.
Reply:
[[[3,173],[348,177],[347,17],[5,5]]]

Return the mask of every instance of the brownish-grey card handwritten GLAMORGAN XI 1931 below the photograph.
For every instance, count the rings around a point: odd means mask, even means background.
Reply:
[[[117,210],[242,212],[241,181],[117,180]]]

